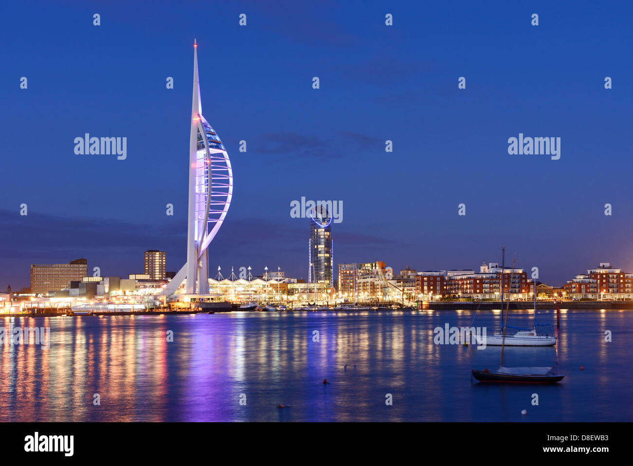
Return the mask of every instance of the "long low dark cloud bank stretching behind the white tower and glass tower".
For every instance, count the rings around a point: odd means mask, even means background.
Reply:
[[[164,220],[163,220],[164,222]],[[0,289],[11,284],[28,286],[30,264],[67,263],[77,258],[88,260],[88,272],[101,268],[101,275],[126,277],[143,272],[142,253],[147,249],[167,252],[167,270],[177,272],[186,257],[186,222],[179,218],[169,224],[135,224],[103,218],[71,218],[29,211],[21,217],[16,211],[0,210]],[[229,211],[209,249],[210,270],[222,265],[264,265],[285,268],[290,277],[303,277],[307,265],[308,222],[306,218],[287,222],[275,218],[237,218]],[[363,261],[375,255],[386,256],[398,241],[332,227],[335,247],[345,251],[341,261]],[[212,272],[211,275],[213,275]]]

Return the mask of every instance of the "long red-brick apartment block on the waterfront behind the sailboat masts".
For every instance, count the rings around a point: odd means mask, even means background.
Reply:
[[[446,294],[453,298],[527,299],[527,273],[522,268],[499,267],[496,262],[483,263],[479,274],[471,270],[447,272]]]

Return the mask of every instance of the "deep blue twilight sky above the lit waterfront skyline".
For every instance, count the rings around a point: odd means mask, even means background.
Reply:
[[[203,114],[234,168],[212,275],[306,277],[309,220],[290,217],[302,196],[343,202],[335,265],[473,268],[503,244],[507,263],[516,253],[551,284],[599,261],[633,271],[632,13],[629,1],[6,3],[0,289],[28,286],[31,263],[78,257],[102,275],[142,272],[146,249],[179,270],[194,37]],[[127,137],[127,160],[75,155],[86,132]],[[509,155],[520,132],[560,137],[560,160]]]

